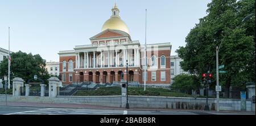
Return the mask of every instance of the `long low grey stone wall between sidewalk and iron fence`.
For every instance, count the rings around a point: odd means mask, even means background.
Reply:
[[[71,103],[98,106],[121,106],[121,95],[114,96],[57,96],[54,98],[38,96],[12,96],[8,95],[9,102],[37,102],[37,103]],[[5,102],[5,95],[0,94],[0,102]],[[129,96],[130,108],[174,108],[204,110],[205,98],[186,97],[156,97],[156,96]],[[209,98],[210,110],[216,110],[216,99]],[[240,99],[220,99],[221,111],[241,111]],[[254,104],[255,106],[255,104]],[[246,101],[246,111],[255,111],[250,100]]]

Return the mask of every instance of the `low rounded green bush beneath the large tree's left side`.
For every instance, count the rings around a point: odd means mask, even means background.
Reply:
[[[174,77],[173,86],[181,90],[197,89],[200,87],[200,81],[195,75],[182,74]]]

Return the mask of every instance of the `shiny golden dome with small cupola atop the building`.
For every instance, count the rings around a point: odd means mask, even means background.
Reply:
[[[114,7],[112,8],[112,16],[110,17],[110,19],[105,21],[101,28],[101,31],[105,31],[106,29],[119,30],[130,34],[127,25],[119,17],[119,10],[117,8],[117,5],[114,5]]]

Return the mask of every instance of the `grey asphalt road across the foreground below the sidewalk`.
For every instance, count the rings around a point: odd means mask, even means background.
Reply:
[[[243,112],[179,111],[179,110],[114,110],[88,108],[48,108],[0,106],[1,115],[255,115]]]

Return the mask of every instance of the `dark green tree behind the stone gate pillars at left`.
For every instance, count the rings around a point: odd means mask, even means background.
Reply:
[[[10,67],[10,79],[14,77],[21,77],[26,82],[28,79],[34,78],[37,75],[40,79],[44,80],[47,84],[49,73],[46,71],[46,60],[40,57],[39,54],[32,55],[18,51],[11,53],[11,67]],[[8,75],[8,59],[4,59],[0,63],[0,76]]]

